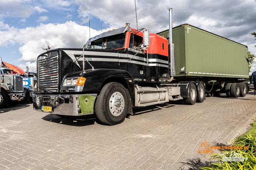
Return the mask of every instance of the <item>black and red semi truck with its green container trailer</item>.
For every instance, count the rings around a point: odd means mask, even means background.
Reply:
[[[95,113],[106,125],[132,107],[169,101],[193,105],[225,92],[245,96],[247,47],[189,24],[158,34],[125,27],[90,38],[83,48],[37,58],[33,107],[60,117]],[[174,45],[175,44],[175,45]]]

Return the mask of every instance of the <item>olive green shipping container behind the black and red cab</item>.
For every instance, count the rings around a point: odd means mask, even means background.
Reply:
[[[176,77],[249,78],[247,46],[188,24],[172,33]],[[157,34],[169,39],[169,30]]]

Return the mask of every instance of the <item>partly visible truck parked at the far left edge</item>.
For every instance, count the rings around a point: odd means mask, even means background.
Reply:
[[[0,108],[5,107],[8,104],[17,103],[25,97],[25,91],[23,88],[23,78],[20,75],[16,75],[8,68],[2,58],[0,57]]]

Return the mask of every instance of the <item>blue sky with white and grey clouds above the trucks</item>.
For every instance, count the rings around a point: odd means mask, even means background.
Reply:
[[[130,23],[136,27],[134,0],[1,0],[0,56],[36,72],[42,47],[82,47],[89,36]],[[138,27],[150,33],[188,23],[248,46],[256,53],[254,0],[136,0]],[[89,35],[90,19],[90,35]],[[256,64],[251,71],[256,71]]]

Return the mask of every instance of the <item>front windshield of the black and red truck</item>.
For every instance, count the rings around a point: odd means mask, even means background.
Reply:
[[[118,49],[124,47],[125,33],[112,35],[92,41],[91,49]]]

